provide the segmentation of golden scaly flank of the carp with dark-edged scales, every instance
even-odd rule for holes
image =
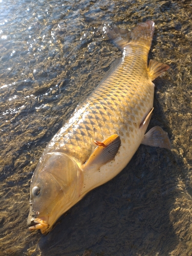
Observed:
[[[50,141],[47,152],[59,149],[82,164],[96,147],[94,140],[102,141],[118,134],[122,143],[125,138],[130,138],[128,142],[132,143],[136,127],[152,109],[154,97],[154,85],[146,66],[147,50],[137,48],[128,50],[115,72],[76,109]]]

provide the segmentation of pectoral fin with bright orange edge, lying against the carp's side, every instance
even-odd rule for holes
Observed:
[[[114,134],[106,138],[102,142],[95,141],[97,147],[91,154],[86,163],[83,164],[82,169],[88,170],[90,168],[99,169],[103,164],[112,161],[121,144],[119,135]]]

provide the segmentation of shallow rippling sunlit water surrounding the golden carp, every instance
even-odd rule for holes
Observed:
[[[0,255],[190,255],[192,210],[190,1],[0,1]],[[172,152],[141,145],[112,181],[43,236],[29,232],[30,180],[48,141],[120,51],[104,24],[153,19],[155,110]]]

